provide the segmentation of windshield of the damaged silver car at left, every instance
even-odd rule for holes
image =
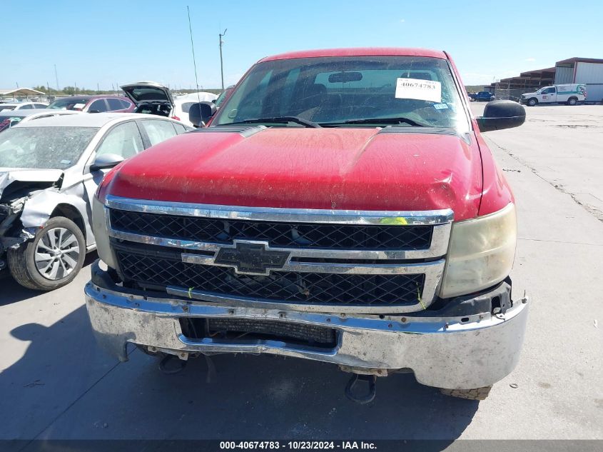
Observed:
[[[0,134],[0,167],[66,169],[78,161],[96,127],[15,127]]]

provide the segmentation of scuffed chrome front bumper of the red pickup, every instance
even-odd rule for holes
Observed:
[[[96,271],[101,271],[96,269]],[[375,316],[223,306],[183,298],[152,298],[86,284],[86,307],[98,343],[127,361],[127,343],[188,357],[189,353],[271,353],[367,369],[410,368],[419,383],[440,388],[489,386],[519,359],[527,300],[505,314],[463,317]],[[184,336],[179,318],[257,318],[335,328],[338,346],[318,349],[282,341],[240,343]]]

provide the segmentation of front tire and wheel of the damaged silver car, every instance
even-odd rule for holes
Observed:
[[[33,240],[10,248],[8,258],[11,275],[21,286],[52,291],[77,276],[86,258],[86,241],[73,221],[55,216]]]

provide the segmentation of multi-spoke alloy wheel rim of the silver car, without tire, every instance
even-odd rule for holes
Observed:
[[[79,255],[80,248],[74,233],[66,228],[52,228],[36,243],[34,261],[41,276],[56,281],[74,271]]]

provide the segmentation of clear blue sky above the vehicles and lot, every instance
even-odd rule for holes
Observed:
[[[603,58],[603,1],[1,0],[0,89],[77,84],[88,89],[154,80],[218,88],[263,56],[354,46],[444,49],[465,84],[582,56]]]

